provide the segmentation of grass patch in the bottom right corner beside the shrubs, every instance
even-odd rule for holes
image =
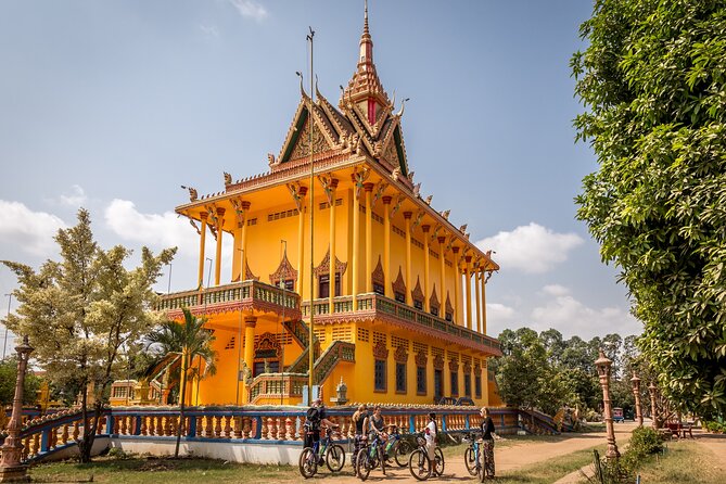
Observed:
[[[662,457],[640,462],[637,472],[645,483],[723,484],[726,475],[714,468],[715,459],[695,442],[674,442]]]

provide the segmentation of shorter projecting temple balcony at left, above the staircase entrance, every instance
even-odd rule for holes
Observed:
[[[297,293],[255,280],[162,295],[156,309],[174,319],[181,317],[182,307],[195,316],[242,311],[301,318]]]

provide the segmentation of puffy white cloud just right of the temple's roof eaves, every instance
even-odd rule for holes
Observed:
[[[569,252],[583,243],[576,233],[556,233],[538,224],[517,227],[476,242],[483,251],[493,250],[502,269],[542,273],[568,259]]]

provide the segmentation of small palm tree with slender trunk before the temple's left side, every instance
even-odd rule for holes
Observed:
[[[187,397],[187,380],[190,378],[189,368],[194,358],[199,357],[204,362],[202,378],[216,372],[216,352],[212,349],[215,340],[212,331],[204,328],[206,318],[193,316],[188,308],[181,309],[184,322],[165,321],[153,330],[147,341],[150,345],[158,345],[166,355],[177,354],[181,359],[180,397],[179,397],[179,425],[177,425],[177,445],[174,457],[179,457],[179,443],[181,442],[181,422],[184,419],[184,400]]]

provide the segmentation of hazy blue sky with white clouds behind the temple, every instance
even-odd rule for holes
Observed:
[[[404,139],[422,196],[501,266],[488,333],[640,333],[617,269],[576,220],[597,163],[574,140],[584,107],[569,61],[591,3],[369,3],[381,81],[410,99]],[[319,89],[336,102],[362,16],[362,0],[0,2],[0,259],[58,259],[53,235],[82,206],[104,247],[179,246],[158,291],[195,288],[180,186],[211,193],[224,171],[267,171],[300,101],[295,72],[309,79],[308,26]],[[0,267],[2,317],[16,286]]]

